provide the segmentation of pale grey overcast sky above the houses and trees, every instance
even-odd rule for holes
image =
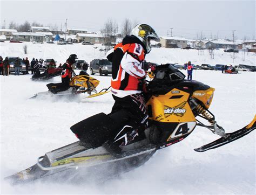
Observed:
[[[255,1],[4,1],[1,27],[25,20],[47,26],[87,29],[98,32],[112,18],[119,25],[125,18],[151,25],[160,36],[197,38],[255,37]]]

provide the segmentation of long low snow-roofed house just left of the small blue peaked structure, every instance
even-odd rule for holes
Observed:
[[[13,32],[12,36],[14,40],[20,41],[39,41],[44,42],[45,35],[38,32]]]

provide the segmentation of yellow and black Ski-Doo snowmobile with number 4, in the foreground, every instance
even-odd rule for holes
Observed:
[[[147,85],[145,94],[150,123],[144,133],[136,134],[132,139],[129,139],[129,133],[123,133],[122,128],[130,121],[126,110],[99,113],[71,127],[80,141],[47,152],[35,165],[5,179],[16,184],[60,172],[73,174],[82,168],[88,170],[86,174],[100,170],[114,175],[144,164],[157,150],[184,140],[197,126],[220,136],[218,140],[194,149],[198,152],[221,147],[256,128],[255,116],[244,128],[225,133],[208,110],[214,88],[198,81],[184,80],[185,75],[169,64],[157,66],[153,73],[154,78]],[[203,118],[210,125],[196,117]],[[104,146],[113,137],[113,142],[124,139],[126,143],[118,155]]]

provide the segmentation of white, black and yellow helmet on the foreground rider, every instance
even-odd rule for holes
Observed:
[[[146,47],[146,53],[151,51],[150,40],[159,42],[160,39],[154,29],[147,24],[136,25],[131,32],[131,35],[137,37]]]

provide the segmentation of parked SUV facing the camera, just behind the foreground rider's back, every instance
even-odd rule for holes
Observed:
[[[112,63],[107,59],[94,59],[90,62],[91,75],[99,73],[99,75],[107,75],[112,73]]]

